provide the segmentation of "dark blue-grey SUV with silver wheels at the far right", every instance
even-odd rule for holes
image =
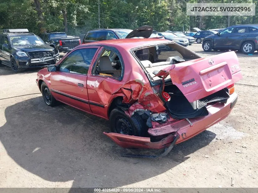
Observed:
[[[258,25],[234,25],[205,37],[202,48],[205,52],[213,50],[241,50],[252,54],[258,50]]]

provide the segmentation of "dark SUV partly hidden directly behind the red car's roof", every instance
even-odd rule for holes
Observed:
[[[85,34],[82,43],[85,44],[93,41],[124,39],[132,31],[133,30],[129,29],[94,29]]]

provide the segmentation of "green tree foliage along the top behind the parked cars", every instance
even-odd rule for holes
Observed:
[[[42,17],[38,15],[35,1],[40,3]],[[150,25],[158,31],[182,31],[183,26],[184,30],[199,26],[203,30],[227,27],[227,16],[202,16],[201,20],[200,16],[186,16],[187,2],[231,0],[1,0],[0,29],[28,28],[35,34],[42,28],[47,32],[64,31],[64,17],[67,17],[68,35],[85,34],[87,30],[99,27],[99,9],[101,28],[135,29]],[[234,2],[256,3],[258,11],[257,0]],[[230,17],[231,25],[250,23],[258,23],[258,17]]]

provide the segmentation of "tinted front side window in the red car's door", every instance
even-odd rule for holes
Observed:
[[[97,48],[84,48],[71,52],[59,65],[60,72],[87,75],[90,63]]]

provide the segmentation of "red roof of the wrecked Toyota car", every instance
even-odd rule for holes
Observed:
[[[87,44],[82,44],[77,46],[79,47],[88,47],[88,46],[111,46],[115,48],[124,48],[126,50],[130,50],[138,47],[146,47],[148,45],[156,45],[156,44],[169,44],[173,43],[172,41],[165,39],[156,39],[156,38],[130,38],[130,39],[115,39],[115,40],[104,40],[104,41],[95,41]]]

